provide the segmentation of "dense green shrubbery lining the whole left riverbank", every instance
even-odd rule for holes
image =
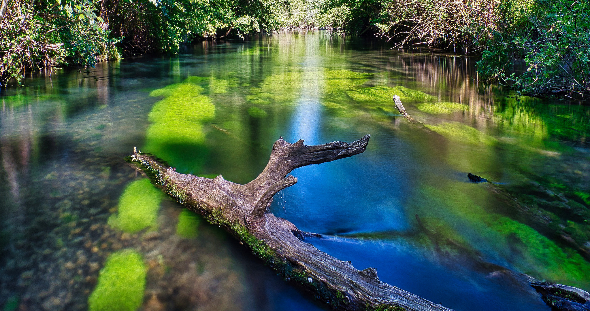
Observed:
[[[280,27],[286,0],[3,0],[0,82],[133,52],[176,53],[195,38]],[[117,44],[117,48],[116,48]]]

